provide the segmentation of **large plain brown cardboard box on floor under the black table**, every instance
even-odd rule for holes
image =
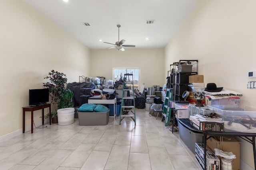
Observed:
[[[207,140],[206,145],[215,153],[214,149],[220,149],[224,152],[232,152],[236,155],[233,160],[233,170],[240,170],[240,145],[241,142],[238,141],[236,137],[223,137],[222,142],[220,142],[221,137],[212,137]],[[217,156],[219,159],[220,157]]]

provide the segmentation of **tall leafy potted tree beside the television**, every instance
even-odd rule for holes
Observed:
[[[44,79],[49,80],[49,82],[43,83],[43,86],[49,88],[51,104],[53,105],[51,113],[52,123],[58,123],[57,110],[74,107],[72,102],[74,93],[70,89],[65,88],[68,79],[66,74],[62,72],[51,70]],[[45,118],[48,117],[49,114],[45,116]]]

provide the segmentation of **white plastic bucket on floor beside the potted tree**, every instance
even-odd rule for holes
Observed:
[[[58,109],[57,113],[58,113],[58,125],[70,125],[74,123],[74,115],[75,115],[74,107]]]

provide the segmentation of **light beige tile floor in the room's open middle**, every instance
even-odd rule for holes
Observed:
[[[0,170],[201,170],[161,117],[136,109],[104,126],[47,125],[0,142]]]

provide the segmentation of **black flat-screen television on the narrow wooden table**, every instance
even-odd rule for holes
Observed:
[[[49,102],[49,89],[30,89],[29,90],[29,106],[38,106]]]

